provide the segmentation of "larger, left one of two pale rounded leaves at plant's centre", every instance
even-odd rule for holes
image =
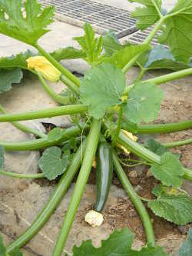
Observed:
[[[121,69],[109,63],[91,68],[81,81],[81,102],[88,105],[94,118],[102,118],[107,108],[122,104],[125,77]]]

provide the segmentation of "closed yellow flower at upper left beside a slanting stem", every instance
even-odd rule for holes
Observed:
[[[35,71],[39,72],[49,81],[58,81],[61,77],[61,72],[43,56],[30,57],[27,59],[27,62],[28,68],[35,69]]]

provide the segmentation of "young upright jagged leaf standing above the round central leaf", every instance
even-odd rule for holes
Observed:
[[[97,63],[102,52],[102,37],[95,37],[91,25],[84,24],[84,36],[74,38],[81,45],[86,54],[86,60],[90,65]]]

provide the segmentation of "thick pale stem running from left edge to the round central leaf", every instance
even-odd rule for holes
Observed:
[[[68,105],[56,108],[45,108],[38,111],[28,111],[18,114],[7,114],[0,116],[0,122],[2,121],[23,121],[32,120],[38,118],[52,118],[58,115],[73,115],[80,114],[88,110],[85,105]]]

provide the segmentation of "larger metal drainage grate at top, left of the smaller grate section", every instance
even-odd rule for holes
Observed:
[[[71,25],[82,27],[89,22],[94,31],[103,34],[112,29],[118,38],[137,32],[136,19],[130,12],[90,0],[39,0],[41,5],[55,5],[55,17]]]

